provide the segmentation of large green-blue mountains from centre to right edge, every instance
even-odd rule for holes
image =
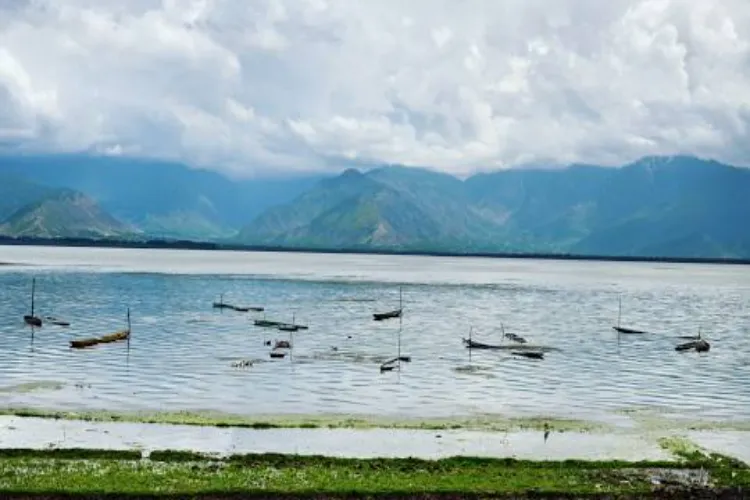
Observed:
[[[349,170],[270,208],[248,244],[627,257],[750,257],[750,170],[686,156],[460,181]]]

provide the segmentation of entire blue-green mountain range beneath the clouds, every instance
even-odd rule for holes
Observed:
[[[750,258],[749,193],[750,170],[689,156],[465,180],[386,166],[242,181],[164,162],[0,157],[0,234]]]

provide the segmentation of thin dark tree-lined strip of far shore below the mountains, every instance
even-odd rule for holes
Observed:
[[[576,255],[562,253],[513,253],[513,252],[455,252],[431,250],[392,250],[374,248],[321,248],[241,245],[234,243],[212,243],[190,240],[94,240],[87,238],[12,238],[0,236],[0,246],[54,246],[89,248],[138,248],[164,250],[220,250],[232,252],[285,252],[354,255],[413,255],[425,257],[472,257],[494,259],[537,260],[583,260],[608,262],[662,262],[673,264],[733,264],[750,265],[750,258],[703,258],[703,257],[647,257],[617,255]],[[0,263],[0,265],[3,265]]]

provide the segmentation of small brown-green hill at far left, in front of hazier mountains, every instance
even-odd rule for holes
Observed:
[[[127,239],[136,233],[88,196],[69,189],[51,192],[0,224],[0,234],[15,238]]]

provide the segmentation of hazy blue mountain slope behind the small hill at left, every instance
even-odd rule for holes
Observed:
[[[322,178],[234,181],[179,163],[83,154],[0,156],[0,172],[85,193],[151,237],[211,241],[234,236]]]

